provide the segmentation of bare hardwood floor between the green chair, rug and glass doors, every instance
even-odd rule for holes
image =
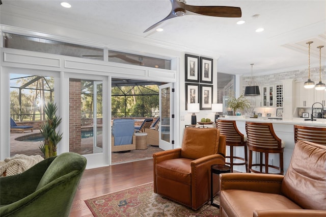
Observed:
[[[84,200],[152,181],[153,159],[85,170],[69,216],[93,216]]]

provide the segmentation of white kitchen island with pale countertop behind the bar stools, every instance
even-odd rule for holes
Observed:
[[[260,123],[273,123],[273,128],[276,135],[285,143],[283,161],[284,161],[284,174],[289,167],[290,159],[294,148],[294,125],[326,127],[326,119],[316,119],[316,121],[305,121],[304,118],[293,118],[292,120],[282,119],[268,119],[267,117],[250,118],[244,116],[226,116],[219,118],[222,120],[235,120],[236,125],[241,133],[246,135],[246,121],[260,122]],[[254,152],[255,153],[255,152]],[[227,155],[229,150],[227,148]],[[234,155],[244,157],[243,148],[235,148]],[[253,154],[256,161],[259,160],[259,154]],[[269,163],[272,165],[279,165],[279,156],[277,154],[269,154]],[[246,172],[243,166],[234,166],[234,170],[239,172]],[[270,172],[274,172],[270,169]],[[276,172],[276,171],[275,171]]]

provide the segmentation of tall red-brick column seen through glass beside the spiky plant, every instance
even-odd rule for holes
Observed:
[[[80,98],[81,83],[80,79],[70,79],[69,82],[69,150],[75,152],[82,148],[81,132],[81,106]]]

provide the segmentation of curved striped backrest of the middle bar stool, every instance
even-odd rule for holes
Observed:
[[[282,149],[282,141],[274,132],[272,123],[246,122],[249,149]]]

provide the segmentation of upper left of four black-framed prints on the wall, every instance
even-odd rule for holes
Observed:
[[[185,82],[199,82],[199,57],[185,55]]]

